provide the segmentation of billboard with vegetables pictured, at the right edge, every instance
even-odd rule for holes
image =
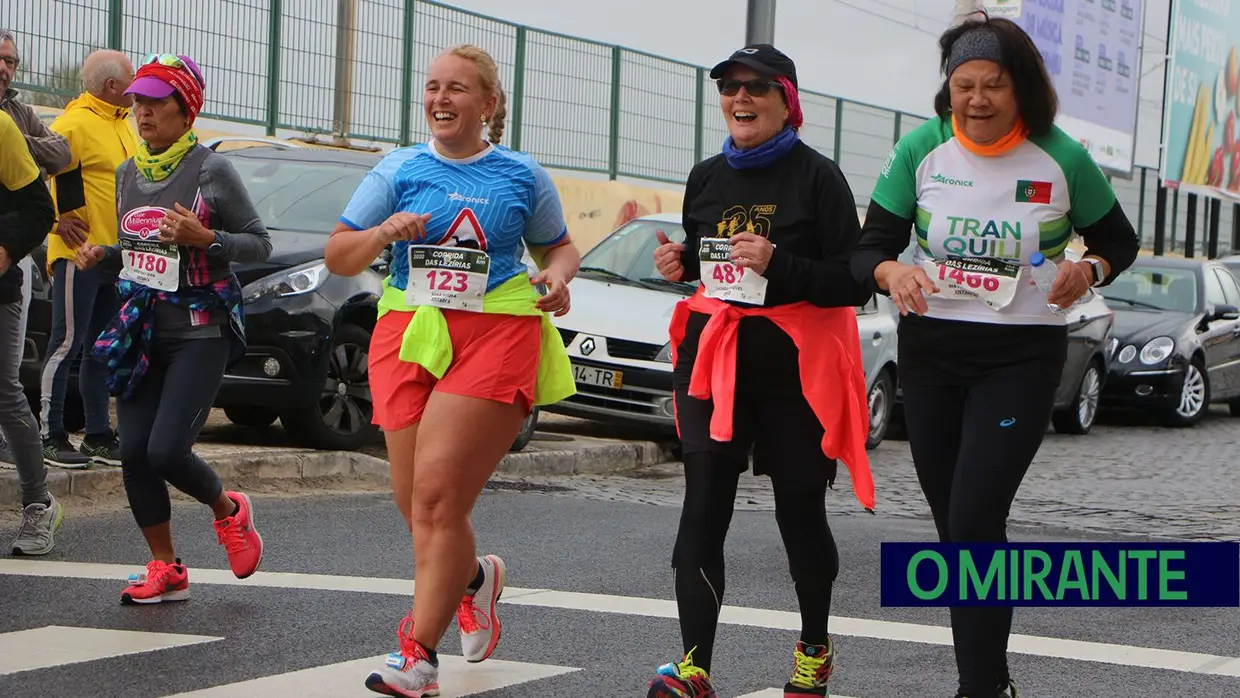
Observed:
[[[1159,175],[1171,188],[1240,200],[1240,2],[1173,0],[1171,12]]]

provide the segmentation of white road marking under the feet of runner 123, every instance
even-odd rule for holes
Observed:
[[[298,696],[299,698],[348,698],[374,696],[365,681],[383,666],[387,655],[301,669],[253,681],[216,686],[167,698],[249,698],[253,696]],[[573,667],[487,660],[471,665],[463,657],[439,655],[439,689],[443,698],[472,696],[582,671]]]

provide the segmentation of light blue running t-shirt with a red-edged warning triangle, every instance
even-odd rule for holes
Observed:
[[[568,234],[559,192],[551,175],[523,152],[501,145],[455,160],[433,143],[398,148],[387,154],[357,186],[340,221],[365,231],[397,212],[430,213],[427,239],[482,249],[491,257],[486,290],[527,269],[525,243],[548,245]],[[392,247],[391,284],[409,281],[409,243]]]

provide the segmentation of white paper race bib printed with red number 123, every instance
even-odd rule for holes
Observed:
[[[491,257],[480,249],[430,244],[409,245],[409,305],[482,312]]]

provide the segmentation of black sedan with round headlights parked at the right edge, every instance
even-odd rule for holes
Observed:
[[[1105,407],[1168,426],[1197,424],[1211,403],[1240,414],[1240,283],[1226,267],[1141,255],[1101,291],[1117,340]]]

